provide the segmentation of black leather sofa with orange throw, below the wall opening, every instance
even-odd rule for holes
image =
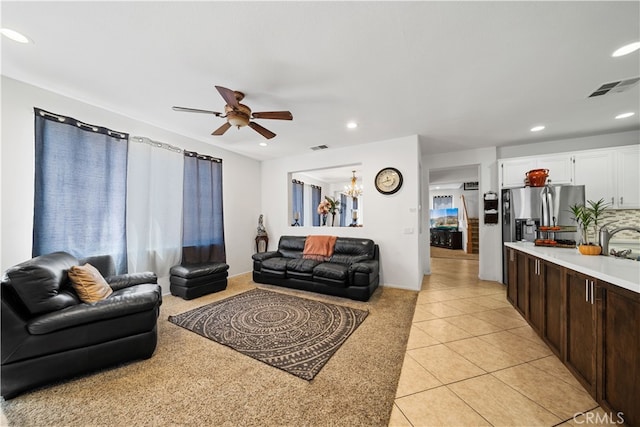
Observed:
[[[338,237],[329,261],[304,259],[305,236],[282,236],[278,250],[253,255],[253,281],[367,301],[378,287],[373,240]]]

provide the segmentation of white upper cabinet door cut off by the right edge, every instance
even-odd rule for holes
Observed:
[[[618,198],[619,209],[640,208],[640,146],[617,150]]]

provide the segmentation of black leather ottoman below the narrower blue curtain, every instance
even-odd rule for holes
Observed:
[[[227,287],[229,266],[224,262],[184,264],[171,267],[171,295],[193,299]]]

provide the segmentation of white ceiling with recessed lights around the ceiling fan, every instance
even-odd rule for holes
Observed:
[[[640,39],[637,1],[3,1],[1,12],[35,42],[3,38],[2,74],[256,159],[407,135],[441,153],[640,128],[637,85],[587,98],[640,76],[638,52],[611,57]],[[250,128],[211,136],[222,118],[171,110],[223,111],[214,85],[294,120],[257,120],[278,134],[260,147]]]

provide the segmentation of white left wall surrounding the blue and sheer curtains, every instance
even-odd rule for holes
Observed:
[[[254,239],[260,215],[261,189],[257,184],[260,180],[260,162],[4,76],[0,209],[2,271],[31,258],[33,107],[223,159],[224,225],[229,274],[251,271],[251,255],[255,252]],[[163,290],[168,291],[165,285],[163,283]]]

